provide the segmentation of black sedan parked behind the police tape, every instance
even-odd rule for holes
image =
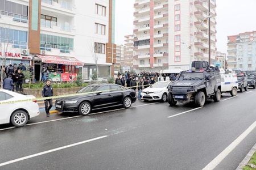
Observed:
[[[94,84],[82,88],[77,93],[89,94],[56,100],[56,110],[62,112],[79,112],[82,116],[86,116],[94,109],[109,108],[118,105],[123,105],[124,108],[130,108],[131,104],[136,101],[134,90],[117,84]]]

